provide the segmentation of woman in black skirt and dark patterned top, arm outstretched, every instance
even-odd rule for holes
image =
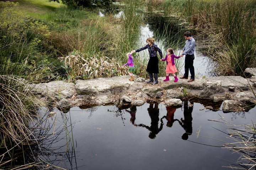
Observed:
[[[145,49],[148,49],[149,51],[149,62],[148,66],[146,68],[146,71],[149,74],[149,80],[146,81],[146,83],[151,83],[151,84],[158,84],[158,73],[159,73],[159,68],[158,68],[158,56],[157,52],[159,52],[160,58],[162,59],[162,51],[154,44],[155,39],[152,37],[149,37],[146,39],[146,42],[148,43],[144,47],[137,49],[137,50],[132,50],[131,53],[134,52],[139,52]],[[153,79],[153,74],[155,77],[155,81]]]

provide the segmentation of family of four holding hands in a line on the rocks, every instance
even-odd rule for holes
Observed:
[[[188,79],[188,71],[190,71],[191,77],[190,80],[188,80],[188,82],[194,81],[194,66],[193,66],[193,62],[194,62],[194,51],[195,51],[195,46],[196,46],[196,41],[194,40],[194,38],[191,36],[191,33],[189,31],[184,33],[184,38],[186,39],[185,42],[185,46],[183,47],[182,51],[181,51],[181,55],[180,56],[176,56],[174,54],[174,51],[172,48],[168,48],[166,50],[166,56],[164,59],[163,55],[162,55],[162,51],[161,49],[159,49],[159,47],[154,44],[154,38],[149,37],[148,39],[146,39],[146,43],[147,45],[145,45],[144,47],[141,47],[140,49],[137,50],[132,50],[131,52],[127,53],[127,63],[123,65],[123,67],[125,66],[129,66],[128,68],[128,74],[130,75],[130,81],[134,80],[133,77],[133,72],[134,72],[134,64],[133,64],[133,56],[132,54],[134,52],[139,52],[145,49],[148,49],[149,51],[149,61],[148,61],[148,66],[146,68],[146,71],[149,74],[149,80],[146,81],[146,83],[151,83],[152,85],[154,84],[158,84],[158,73],[159,73],[159,67],[158,67],[158,55],[157,53],[159,53],[160,55],[160,61],[166,61],[166,69],[165,69],[165,73],[166,73],[166,78],[164,79],[164,81],[169,81],[169,75],[172,74],[174,76],[174,82],[178,81],[178,78],[176,76],[176,66],[175,66],[175,62],[174,62],[174,58],[180,58],[183,57],[185,55],[185,74],[180,77],[180,79]],[[153,78],[154,75],[154,78]]]

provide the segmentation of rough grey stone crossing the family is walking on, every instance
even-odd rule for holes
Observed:
[[[256,68],[245,70],[241,76],[196,78],[187,82],[179,79],[174,83],[159,78],[156,85],[147,84],[144,78],[127,76],[76,80],[75,83],[52,81],[34,85],[34,91],[44,101],[55,101],[62,111],[74,106],[92,107],[97,105],[124,104],[141,106],[145,102],[164,102],[167,106],[181,106],[183,100],[201,99],[223,104],[223,111],[248,110],[256,104]],[[212,103],[209,102],[209,103]],[[207,102],[204,103],[206,108]]]

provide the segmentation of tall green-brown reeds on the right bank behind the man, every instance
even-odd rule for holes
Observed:
[[[182,17],[206,35],[208,55],[217,61],[218,75],[243,75],[256,67],[256,4],[251,0],[175,0]],[[238,66],[241,66],[238,67]]]

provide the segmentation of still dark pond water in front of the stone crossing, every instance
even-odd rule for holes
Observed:
[[[237,165],[241,153],[222,148],[234,142],[225,134],[226,124],[211,120],[251,124],[256,120],[256,109],[223,113],[202,110],[200,103],[188,106],[73,107],[68,113],[53,109],[57,113],[49,118],[45,115],[41,123],[43,135],[48,137],[41,141],[41,151],[38,147],[34,151],[47,163],[79,170],[217,170]]]

